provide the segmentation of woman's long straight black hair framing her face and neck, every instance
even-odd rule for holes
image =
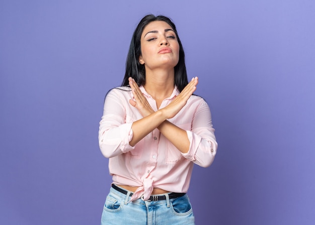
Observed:
[[[121,85],[128,86],[129,77],[132,77],[139,86],[145,83],[145,68],[144,68],[144,65],[140,64],[139,62],[139,56],[141,55],[140,40],[141,40],[141,34],[145,26],[153,21],[166,22],[172,27],[172,29],[174,30],[176,34],[177,41],[180,48],[179,48],[179,61],[177,65],[174,67],[175,85],[177,86],[179,91],[182,91],[184,87],[188,84],[184,49],[183,49],[181,40],[178,37],[175,24],[172,22],[170,18],[167,18],[162,15],[155,17],[154,15],[150,14],[143,17],[141,21],[139,22],[137,28],[135,29],[132,35],[129,52],[128,52],[127,60],[126,60],[126,73],[125,73],[125,76]]]

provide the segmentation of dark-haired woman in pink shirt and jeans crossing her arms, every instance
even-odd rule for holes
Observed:
[[[102,224],[194,224],[186,194],[193,165],[217,143],[210,109],[193,95],[174,23],[145,16],[133,33],[121,87],[105,98],[99,144],[113,183]]]

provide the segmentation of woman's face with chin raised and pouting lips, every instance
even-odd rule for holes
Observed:
[[[179,44],[172,27],[163,21],[146,25],[141,34],[139,62],[145,70],[174,68],[179,60]]]

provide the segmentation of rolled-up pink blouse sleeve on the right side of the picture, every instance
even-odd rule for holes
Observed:
[[[212,127],[210,108],[205,101],[195,111],[191,131],[186,131],[190,141],[189,151],[183,156],[195,164],[208,167],[212,164],[217,142]]]

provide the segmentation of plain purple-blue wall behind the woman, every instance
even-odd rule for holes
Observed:
[[[148,13],[172,18],[219,144],[196,224],[314,224],[312,0],[1,1],[0,224],[100,224],[106,92]]]

